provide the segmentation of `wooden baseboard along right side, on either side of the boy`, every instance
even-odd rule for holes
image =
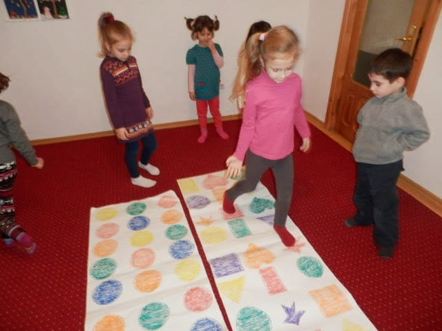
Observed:
[[[327,130],[323,121],[320,121],[320,119],[318,119],[314,115],[309,114],[309,112],[307,112],[307,119],[313,126],[327,134],[327,136],[336,141],[336,143],[339,143],[340,146],[343,146],[343,148],[350,152],[352,151],[352,143],[344,139],[342,136],[340,136],[340,134]],[[425,207],[442,217],[441,198],[437,197],[435,194],[423,188],[421,185],[412,181],[410,178],[404,176],[403,174],[401,174],[401,176],[399,177],[398,187],[410,194],[412,197],[414,197],[414,199],[425,205]]]

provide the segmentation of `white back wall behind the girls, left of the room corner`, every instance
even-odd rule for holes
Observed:
[[[220,92],[222,114],[237,114],[228,100],[237,54],[249,26],[265,19],[287,24],[305,41],[307,0],[94,0],[66,1],[70,19],[6,22],[0,3],[0,72],[10,76],[2,99],[13,103],[30,139],[64,137],[111,130],[99,82],[97,20],[111,11],[133,29],[144,88],[155,110],[155,123],[196,119],[187,93],[186,51],[191,40],[184,17],[218,15],[215,41],[224,52]],[[296,71],[302,74],[302,60]]]

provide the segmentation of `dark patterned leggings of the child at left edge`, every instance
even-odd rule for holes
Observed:
[[[19,228],[15,223],[15,203],[11,195],[17,178],[17,163],[0,164],[0,234],[3,238],[11,237]]]

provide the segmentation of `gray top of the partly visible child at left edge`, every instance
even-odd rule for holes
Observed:
[[[37,155],[26,132],[21,128],[19,115],[9,103],[0,100],[0,164],[15,161],[12,146],[29,165],[37,164]]]

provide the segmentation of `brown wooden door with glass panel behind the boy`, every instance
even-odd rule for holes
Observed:
[[[416,89],[442,0],[347,0],[325,126],[354,142],[356,117],[371,97],[367,69],[376,54],[402,48],[412,54],[407,93]]]

